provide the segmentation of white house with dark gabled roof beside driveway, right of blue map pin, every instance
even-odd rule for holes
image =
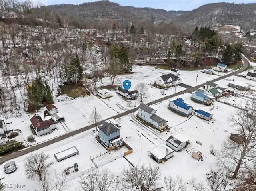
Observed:
[[[160,86],[174,86],[181,83],[181,78],[172,74],[166,74],[156,79],[156,84]]]

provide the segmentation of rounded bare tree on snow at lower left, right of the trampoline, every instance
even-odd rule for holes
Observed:
[[[24,168],[28,179],[34,180],[36,175],[42,180],[42,176],[48,172],[48,169],[53,164],[48,162],[49,155],[45,153],[32,154],[25,159]]]

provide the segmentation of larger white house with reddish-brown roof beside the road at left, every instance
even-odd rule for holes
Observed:
[[[57,128],[53,119],[43,121],[40,116],[34,115],[30,121],[37,136],[44,135]]]

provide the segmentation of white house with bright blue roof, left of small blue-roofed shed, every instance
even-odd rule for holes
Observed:
[[[184,100],[182,98],[169,101],[169,108],[185,116],[191,115],[193,109],[192,106],[184,103]]]

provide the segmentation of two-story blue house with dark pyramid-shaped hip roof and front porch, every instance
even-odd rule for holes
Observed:
[[[98,129],[100,140],[102,140],[107,147],[119,146],[123,143],[123,138],[120,137],[120,129],[114,124],[104,122]]]

